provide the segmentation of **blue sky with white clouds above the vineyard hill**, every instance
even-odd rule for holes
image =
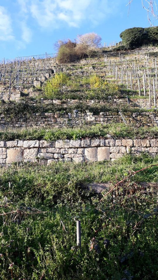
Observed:
[[[150,26],[142,0],[133,0],[129,15],[128,1],[0,0],[0,60],[54,53],[58,39],[77,34],[96,32],[109,43],[127,28]]]

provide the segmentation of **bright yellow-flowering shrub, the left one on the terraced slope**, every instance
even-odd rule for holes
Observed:
[[[49,98],[56,98],[56,95],[60,87],[67,84],[69,81],[68,76],[65,73],[55,74],[52,79],[49,79],[44,87],[44,94]]]

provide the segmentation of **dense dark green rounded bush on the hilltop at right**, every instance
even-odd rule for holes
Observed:
[[[158,27],[133,27],[121,32],[120,37],[129,50],[139,48],[146,44],[157,45]]]

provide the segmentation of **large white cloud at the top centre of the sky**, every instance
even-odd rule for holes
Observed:
[[[19,0],[22,1],[22,0]],[[26,1],[26,0],[25,0]],[[66,23],[79,27],[85,20],[92,24],[114,14],[115,0],[30,0],[30,11],[41,27],[58,28]]]

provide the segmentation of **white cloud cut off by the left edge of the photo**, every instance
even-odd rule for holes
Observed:
[[[3,6],[0,6],[0,41],[10,40],[14,40],[11,18],[7,10]]]

